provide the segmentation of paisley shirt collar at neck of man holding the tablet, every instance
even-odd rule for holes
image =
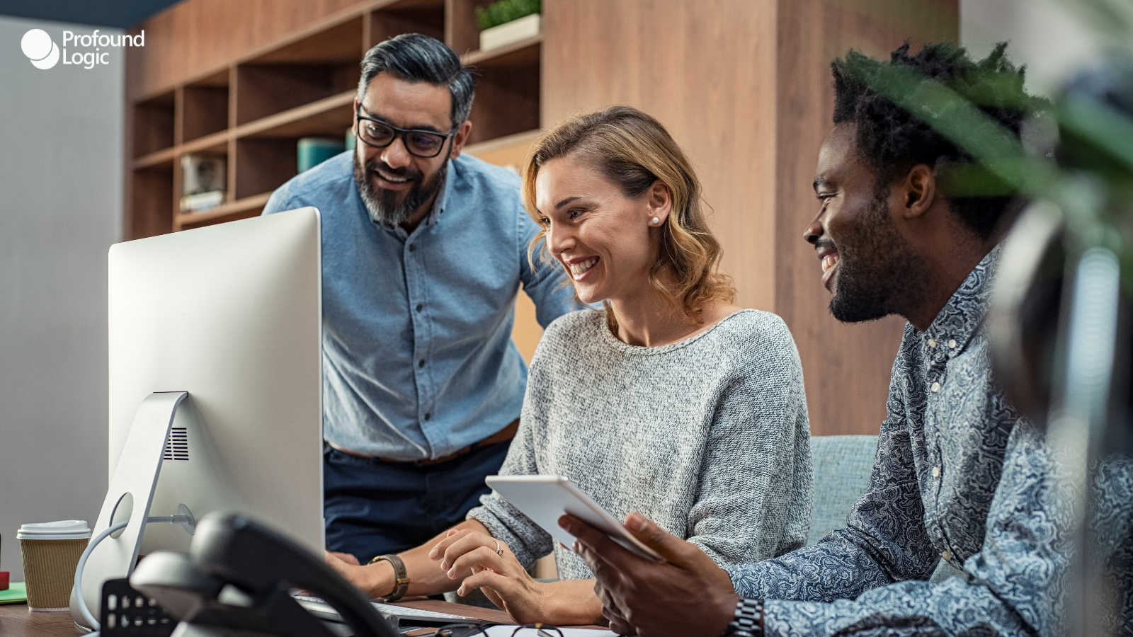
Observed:
[[[925,331],[925,341],[949,356],[964,350],[983,323],[1003,244],[991,248]]]

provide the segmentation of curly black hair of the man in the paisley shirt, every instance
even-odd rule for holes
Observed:
[[[919,163],[943,169],[947,164],[974,164],[976,160],[957,148],[931,126],[889,99],[867,86],[868,78],[888,65],[906,66],[923,77],[938,82],[997,120],[1016,138],[1024,119],[1040,101],[1023,90],[1024,68],[1015,68],[1004,54],[1007,43],[995,46],[981,61],[954,44],[926,44],[915,56],[909,43],[894,51],[888,62],[872,60],[850,51],[834,60],[834,124],[857,125],[858,151],[877,173],[879,192],[902,178]],[[981,196],[948,196],[952,211],[981,238],[987,239],[1015,198],[1010,189]]]

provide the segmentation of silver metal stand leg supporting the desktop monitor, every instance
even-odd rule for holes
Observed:
[[[188,396],[187,391],[151,393],[142,401],[134,416],[134,424],[130,425],[130,433],[122,447],[114,476],[110,479],[110,489],[107,490],[107,499],[102,502],[102,511],[99,512],[99,520],[94,524],[92,537],[122,520],[129,519],[129,524],[103,540],[91,552],[83,571],[83,597],[95,618],[100,614],[102,583],[112,578],[129,577],[134,572],[169,431],[178,406]],[[184,504],[181,508],[184,510],[179,512],[188,513]],[[189,519],[191,520],[191,513]],[[191,523],[182,526],[193,533]],[[74,589],[70,609],[76,623],[92,628],[78,611]]]

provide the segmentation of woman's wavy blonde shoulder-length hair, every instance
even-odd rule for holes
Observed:
[[[591,161],[627,197],[645,195],[657,180],[668,188],[672,210],[659,228],[661,246],[657,261],[649,269],[649,284],[685,322],[699,323],[700,313],[710,300],[735,301],[731,279],[718,272],[721,247],[705,220],[700,181],[684,152],[659,121],[631,107],[612,107],[571,117],[539,137],[523,170],[523,205],[536,223],[539,214],[535,207],[535,180],[539,168],[576,153]],[[546,233],[544,227],[528,246],[533,265],[536,250],[544,262],[557,263],[545,243]],[[659,278],[666,270],[674,279],[673,291]],[[606,318],[615,329],[608,303]]]

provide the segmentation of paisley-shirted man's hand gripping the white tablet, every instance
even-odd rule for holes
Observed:
[[[574,552],[597,577],[595,592],[610,629],[645,637],[717,637],[740,596],[726,572],[695,544],[665,532],[638,512],[625,527],[661,553],[654,562],[627,551],[585,521],[563,516],[559,524],[578,537]]]

